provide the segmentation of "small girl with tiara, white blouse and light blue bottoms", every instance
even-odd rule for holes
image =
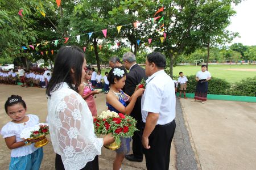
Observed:
[[[12,121],[3,126],[1,135],[11,150],[10,170],[39,170],[43,159],[43,148],[36,148],[39,139],[22,139],[20,133],[39,123],[38,116],[26,114],[27,106],[22,97],[11,95],[5,103],[5,111]]]

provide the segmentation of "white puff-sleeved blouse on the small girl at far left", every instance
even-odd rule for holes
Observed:
[[[34,114],[28,114],[27,116],[29,118],[27,122],[24,122],[22,124],[15,124],[14,122],[8,122],[5,126],[3,126],[1,130],[1,135],[3,136],[3,138],[15,136],[16,142],[24,141],[24,139],[20,138],[20,133],[22,133],[22,130],[28,127],[33,127],[39,123],[38,116]],[[38,149],[34,145],[35,143],[32,143],[31,145],[18,147],[11,150],[11,157],[19,157],[19,156],[26,156],[28,154],[32,154]]]

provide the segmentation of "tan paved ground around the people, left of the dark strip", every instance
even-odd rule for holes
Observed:
[[[10,121],[10,118],[5,113],[3,105],[7,100],[7,97],[11,95],[20,95],[23,97],[27,104],[27,113],[36,114],[39,116],[41,122],[45,122],[47,116],[47,99],[45,96],[45,90],[42,88],[21,88],[19,86],[10,86],[0,84],[0,128]],[[105,94],[97,95],[96,104],[98,113],[106,110],[105,106]],[[10,150],[6,147],[5,141],[0,137],[0,169],[8,169],[10,162]],[[100,169],[112,169],[113,159],[115,152],[102,148],[102,155],[99,158]],[[44,146],[44,158],[40,169],[55,169],[55,153],[51,143]],[[143,159],[142,163],[133,163],[125,160],[122,165],[122,169],[146,169],[146,163]],[[172,144],[171,149],[171,163],[170,169],[176,169],[176,153],[175,146]]]

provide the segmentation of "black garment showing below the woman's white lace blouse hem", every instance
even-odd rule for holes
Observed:
[[[56,170],[65,170],[63,162],[61,160],[61,156],[56,154],[55,157],[55,169]],[[88,162],[84,168],[81,170],[98,170],[98,156],[95,156],[95,158],[91,161]]]

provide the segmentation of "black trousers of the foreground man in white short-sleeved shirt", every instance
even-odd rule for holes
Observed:
[[[171,143],[175,128],[175,120],[170,124],[155,126],[155,129],[148,137],[148,145],[150,148],[143,148],[147,170],[169,169]]]

